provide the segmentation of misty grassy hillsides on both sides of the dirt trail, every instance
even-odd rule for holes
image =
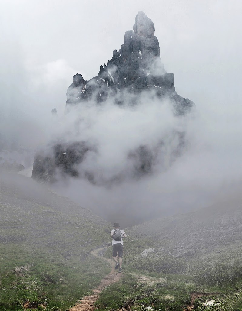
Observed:
[[[21,310],[23,304],[66,310],[109,271],[89,255],[109,242],[109,224],[28,179],[20,181],[1,183],[0,310]],[[242,310],[240,202],[233,197],[126,230],[124,278],[102,292],[97,309],[178,311],[199,292],[197,310],[208,299],[221,302],[219,311]],[[145,248],[155,252],[142,258]],[[111,256],[110,248],[105,255]],[[14,273],[17,266],[28,271]]]

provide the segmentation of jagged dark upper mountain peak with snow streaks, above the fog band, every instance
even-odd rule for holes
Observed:
[[[135,104],[145,91],[160,99],[168,96],[176,114],[188,112],[194,103],[177,95],[174,74],[164,69],[154,32],[153,22],[145,13],[138,12],[133,30],[126,31],[123,45],[118,52],[114,50],[107,65],[100,66],[96,77],[84,81],[81,74],[73,76],[73,83],[66,93],[66,104],[79,104],[87,100],[101,103],[108,98],[116,104],[123,104],[124,97],[127,103],[127,92],[135,94],[134,99],[129,97],[129,104]]]

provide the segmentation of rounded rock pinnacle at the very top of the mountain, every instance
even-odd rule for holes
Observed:
[[[153,38],[155,34],[154,23],[150,18],[146,16],[144,12],[139,11],[135,17],[135,23],[133,25],[133,30],[137,35]]]

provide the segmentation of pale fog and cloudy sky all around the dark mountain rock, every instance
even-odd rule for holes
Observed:
[[[177,93],[196,109],[176,118],[168,100],[143,98],[136,108],[107,102],[64,114],[72,76],[96,76],[123,44],[139,10],[154,22]],[[124,225],[218,200],[240,185],[242,173],[239,12],[239,1],[3,2],[0,156],[24,165],[22,173],[31,176],[36,149],[51,140],[98,146],[98,156],[90,153],[83,163],[97,176],[96,185],[60,178],[52,187]],[[186,146],[173,161],[176,130],[186,131]],[[161,139],[152,173],[131,178],[127,153],[140,144],[153,151]],[[106,182],[116,174],[122,174],[121,182]]]

